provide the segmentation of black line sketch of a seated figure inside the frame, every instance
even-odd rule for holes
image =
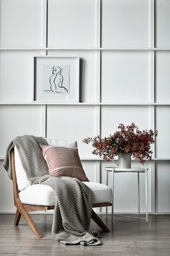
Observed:
[[[61,67],[53,66],[52,76],[49,79],[50,90],[53,93],[68,93],[68,90],[63,86],[63,75]]]

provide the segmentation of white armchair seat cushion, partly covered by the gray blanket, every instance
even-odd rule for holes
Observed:
[[[112,202],[112,189],[96,183],[84,182],[92,191],[93,203]],[[35,184],[19,192],[20,200],[29,205],[55,205],[55,192],[48,185]]]

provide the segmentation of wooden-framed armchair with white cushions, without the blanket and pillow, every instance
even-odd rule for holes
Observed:
[[[64,140],[47,140],[49,145],[63,145],[76,147],[76,141]],[[17,148],[12,150],[12,178],[14,189],[14,205],[17,208],[14,225],[19,224],[21,216],[30,226],[30,229],[37,237],[43,237],[40,230],[35,225],[29,212],[40,210],[51,210],[55,205],[55,193],[53,189],[47,185],[34,184],[31,185],[24,173],[22,164],[19,160]],[[96,182],[85,182],[91,189],[93,195],[93,208],[111,206],[112,190],[104,185]],[[91,218],[98,224],[103,231],[109,231],[107,226],[92,210]]]

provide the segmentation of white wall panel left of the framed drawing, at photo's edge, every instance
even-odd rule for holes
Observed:
[[[40,51],[0,52],[0,101],[25,103],[33,100],[33,56]]]

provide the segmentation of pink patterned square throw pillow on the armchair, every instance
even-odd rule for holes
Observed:
[[[48,164],[49,174],[55,177],[70,176],[88,182],[81,165],[77,148],[41,145],[42,154]]]

